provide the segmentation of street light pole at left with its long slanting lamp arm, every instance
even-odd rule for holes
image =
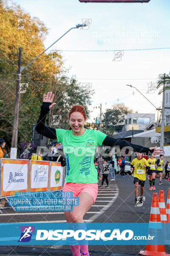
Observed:
[[[79,27],[87,26],[84,24],[78,24],[71,29],[78,29]],[[63,36],[65,36],[71,29],[69,29],[65,34],[58,38],[53,44],[51,44],[47,49],[41,52],[34,60],[26,65],[26,67],[21,66],[22,61],[22,48],[19,48],[19,59],[18,59],[18,71],[17,71],[17,87],[16,87],[16,96],[15,96],[15,110],[14,110],[14,122],[12,128],[12,141],[11,141],[11,152],[10,158],[17,158],[17,139],[18,139],[18,120],[19,120],[19,107],[20,107],[20,82],[21,82],[21,73],[28,66],[30,66],[37,58],[39,58],[44,52],[46,52],[51,46],[53,46],[57,41],[59,41]]]

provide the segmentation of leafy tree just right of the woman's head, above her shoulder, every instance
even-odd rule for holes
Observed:
[[[108,135],[113,135],[115,131],[122,130],[122,125],[118,125],[119,115],[127,115],[133,110],[126,107],[123,103],[113,105],[113,108],[106,109],[102,116],[102,131]]]

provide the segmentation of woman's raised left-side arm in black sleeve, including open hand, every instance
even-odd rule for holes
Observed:
[[[50,138],[50,139],[57,139],[56,136],[56,130],[54,128],[48,127],[45,125],[45,118],[47,114],[49,113],[50,109],[56,104],[52,103],[54,99],[54,94],[52,95],[52,92],[48,92],[47,96],[45,97],[45,94],[43,95],[43,102],[41,106],[40,116],[38,118],[35,130],[42,134],[43,136]]]

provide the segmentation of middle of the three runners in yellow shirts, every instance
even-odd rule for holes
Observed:
[[[149,190],[155,190],[155,175],[156,175],[156,158],[151,156],[147,159],[147,163],[150,165],[150,170],[148,170],[147,174],[149,175],[149,183],[150,183],[150,189]],[[153,186],[152,186],[153,183]]]

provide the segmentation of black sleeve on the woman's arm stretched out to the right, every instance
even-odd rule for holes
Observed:
[[[109,136],[105,137],[105,140],[103,140],[103,145],[106,146],[119,146],[120,149],[124,148],[124,147],[132,147],[133,151],[135,152],[139,152],[139,153],[146,153],[147,155],[151,155],[154,151],[154,149],[150,150],[149,148],[143,147],[143,146],[139,146],[136,144],[132,144],[130,142],[128,142],[127,140],[120,140],[120,139],[115,139]]]

